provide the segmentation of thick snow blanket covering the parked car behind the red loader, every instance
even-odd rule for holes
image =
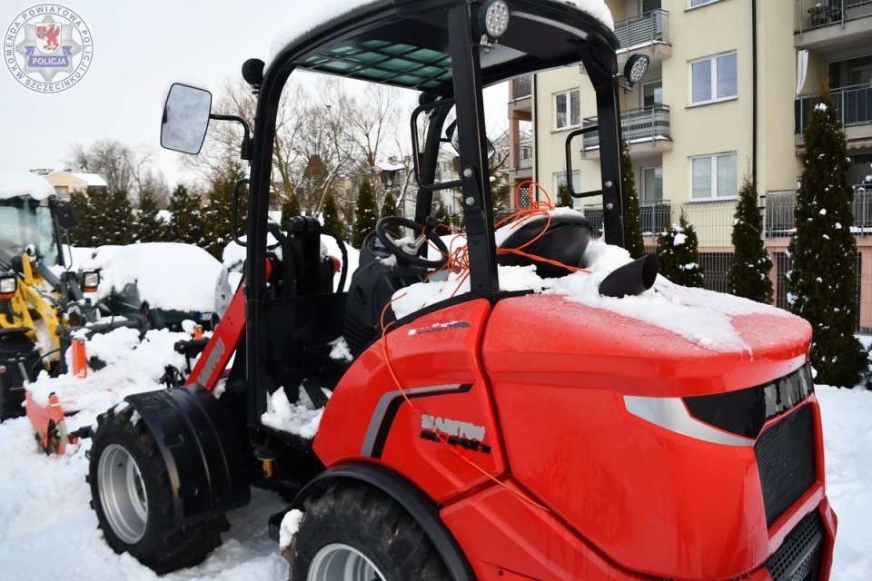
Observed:
[[[191,244],[148,242],[98,249],[94,262],[103,271],[99,296],[135,282],[153,309],[210,311],[221,262]]]

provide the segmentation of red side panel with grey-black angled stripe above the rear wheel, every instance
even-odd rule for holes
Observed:
[[[383,340],[363,352],[324,410],[314,441],[322,462],[328,468],[347,460],[381,462],[439,503],[488,482],[486,474],[505,472],[479,357],[489,315],[487,300],[472,300],[393,330],[386,340],[399,386],[385,365]],[[437,425],[431,428],[424,416]],[[459,423],[460,432],[452,429]],[[483,438],[474,438],[471,432],[481,433],[479,428]],[[424,431],[439,441],[423,438]],[[325,436],[332,434],[342,437]],[[480,445],[471,449],[476,439]]]

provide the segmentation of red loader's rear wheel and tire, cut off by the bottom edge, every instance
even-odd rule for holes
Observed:
[[[446,581],[441,556],[395,500],[362,483],[305,502],[290,555],[291,581]]]

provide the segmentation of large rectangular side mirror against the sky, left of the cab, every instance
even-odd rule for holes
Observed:
[[[161,147],[196,155],[203,148],[212,94],[205,89],[173,83],[163,105]]]

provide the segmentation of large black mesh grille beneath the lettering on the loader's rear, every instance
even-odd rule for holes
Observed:
[[[754,445],[766,525],[795,503],[816,480],[815,429],[808,405],[765,430]]]

